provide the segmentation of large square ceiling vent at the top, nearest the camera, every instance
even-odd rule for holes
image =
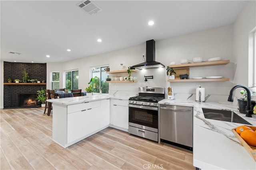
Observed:
[[[102,9],[98,7],[96,4],[93,2],[86,0],[86,1],[81,1],[76,6],[82,10],[84,10],[87,14],[95,14],[97,12],[101,12]]]

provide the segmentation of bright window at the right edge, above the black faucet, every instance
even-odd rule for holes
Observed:
[[[256,87],[256,27],[249,34],[248,86]]]

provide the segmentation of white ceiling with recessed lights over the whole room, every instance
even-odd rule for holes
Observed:
[[[247,3],[97,0],[92,2],[102,12],[89,15],[76,6],[78,2],[1,0],[1,60],[64,62],[220,27],[233,23]],[[155,24],[149,26],[149,20]]]

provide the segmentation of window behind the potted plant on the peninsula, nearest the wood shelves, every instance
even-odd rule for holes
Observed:
[[[108,83],[106,82],[106,78],[109,77],[109,74],[104,70],[109,66],[96,66],[91,68],[91,78],[94,80],[94,84],[92,86],[92,91],[96,93],[108,93]]]

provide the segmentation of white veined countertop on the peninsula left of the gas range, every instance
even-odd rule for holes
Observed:
[[[78,96],[72,98],[59,98],[59,99],[49,99],[47,102],[52,102],[53,104],[62,104],[62,105],[72,105],[80,104],[84,102],[92,102],[97,100],[104,99],[118,99],[118,100],[128,100],[131,96],[111,96],[108,94],[96,94],[92,96]]]

